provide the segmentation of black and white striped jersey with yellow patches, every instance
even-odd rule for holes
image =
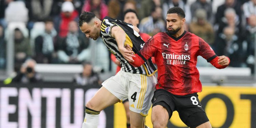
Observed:
[[[115,57],[121,62],[122,69],[125,72],[130,72],[133,74],[143,74],[147,76],[153,75],[157,71],[157,69],[151,58],[148,59],[141,67],[133,67],[118,51],[117,42],[111,36],[111,29],[114,26],[119,26],[125,31],[125,44],[130,45],[134,53],[139,53],[145,42],[141,39],[139,33],[132,29],[133,26],[131,24],[107,16],[103,19],[100,28],[100,37],[104,41],[105,45],[108,47],[109,51],[112,52]]]

